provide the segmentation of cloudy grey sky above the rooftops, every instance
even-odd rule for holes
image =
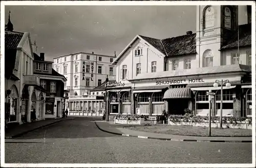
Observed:
[[[196,31],[196,6],[6,6],[5,22],[29,32],[47,61],[76,52],[117,55],[136,35],[165,39]]]

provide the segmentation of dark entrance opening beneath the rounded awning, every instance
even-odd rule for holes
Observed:
[[[168,104],[171,115],[184,115],[184,109],[188,108],[188,99],[170,99]]]

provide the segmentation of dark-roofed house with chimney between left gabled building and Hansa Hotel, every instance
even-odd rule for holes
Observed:
[[[40,53],[40,56],[33,54],[34,74],[40,78],[40,85],[46,90],[45,101],[40,102],[39,111],[45,112],[41,112],[45,118],[59,118],[65,109],[64,83],[67,79],[52,68],[53,62],[45,61],[45,53]]]

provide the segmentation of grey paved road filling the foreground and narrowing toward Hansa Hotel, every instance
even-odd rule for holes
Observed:
[[[92,120],[92,121],[90,121]],[[251,163],[251,143],[173,142],[100,131],[76,118],[6,139],[6,163]]]

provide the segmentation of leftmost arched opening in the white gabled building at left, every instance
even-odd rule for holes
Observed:
[[[11,87],[9,122],[17,121],[18,90],[15,85]]]

